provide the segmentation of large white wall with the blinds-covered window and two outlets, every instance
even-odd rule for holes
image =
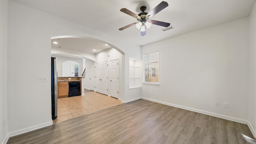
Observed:
[[[160,85],[143,84],[145,98],[246,122],[248,18],[142,46],[142,54],[156,50]]]

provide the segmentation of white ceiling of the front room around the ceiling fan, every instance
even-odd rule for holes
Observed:
[[[32,8],[48,12],[111,36],[123,38],[140,46],[178,36],[216,24],[250,15],[256,0],[165,0],[169,6],[153,16],[152,20],[168,22],[174,28],[163,32],[164,27],[152,25],[140,36],[135,26],[119,28],[136,22],[136,19],[121,8],[139,14],[140,6],[146,12],[161,0],[13,0]]]

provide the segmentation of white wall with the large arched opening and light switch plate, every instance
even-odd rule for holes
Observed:
[[[8,1],[8,129],[10,136],[52,124],[50,78],[51,37],[84,36],[119,48],[125,60],[122,95],[130,99],[129,57],[140,56],[140,46],[51,14]],[[126,62],[127,60],[127,62]],[[124,62],[124,61],[123,61]],[[127,64],[126,64],[127,63]],[[127,91],[126,91],[127,90]]]

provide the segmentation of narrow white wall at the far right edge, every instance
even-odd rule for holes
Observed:
[[[249,16],[248,121],[255,137],[256,127],[256,3]]]

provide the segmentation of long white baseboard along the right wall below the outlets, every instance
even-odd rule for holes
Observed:
[[[157,103],[160,103],[160,104],[165,104],[165,105],[168,105],[168,106],[173,106],[173,107],[176,107],[176,108],[181,108],[181,109],[184,109],[184,110],[190,110],[192,112],[198,112],[198,113],[201,113],[201,114],[206,114],[206,115],[209,115],[209,116],[215,116],[217,118],[223,118],[223,119],[226,119],[226,120],[231,120],[233,122],[248,124],[247,120],[242,120],[240,118],[234,118],[234,117],[231,117],[231,116],[225,116],[225,115],[222,115],[222,114],[216,114],[216,113],[213,113],[213,112],[207,112],[207,111],[204,111],[204,110],[198,110],[198,109],[195,109],[195,108],[189,108],[189,107],[186,107],[186,106],[180,106],[180,105],[177,105],[177,104],[171,104],[171,103],[168,103],[168,102],[153,100],[151,98],[142,97],[142,99],[149,100],[149,101],[152,101],[152,102],[157,102]]]

